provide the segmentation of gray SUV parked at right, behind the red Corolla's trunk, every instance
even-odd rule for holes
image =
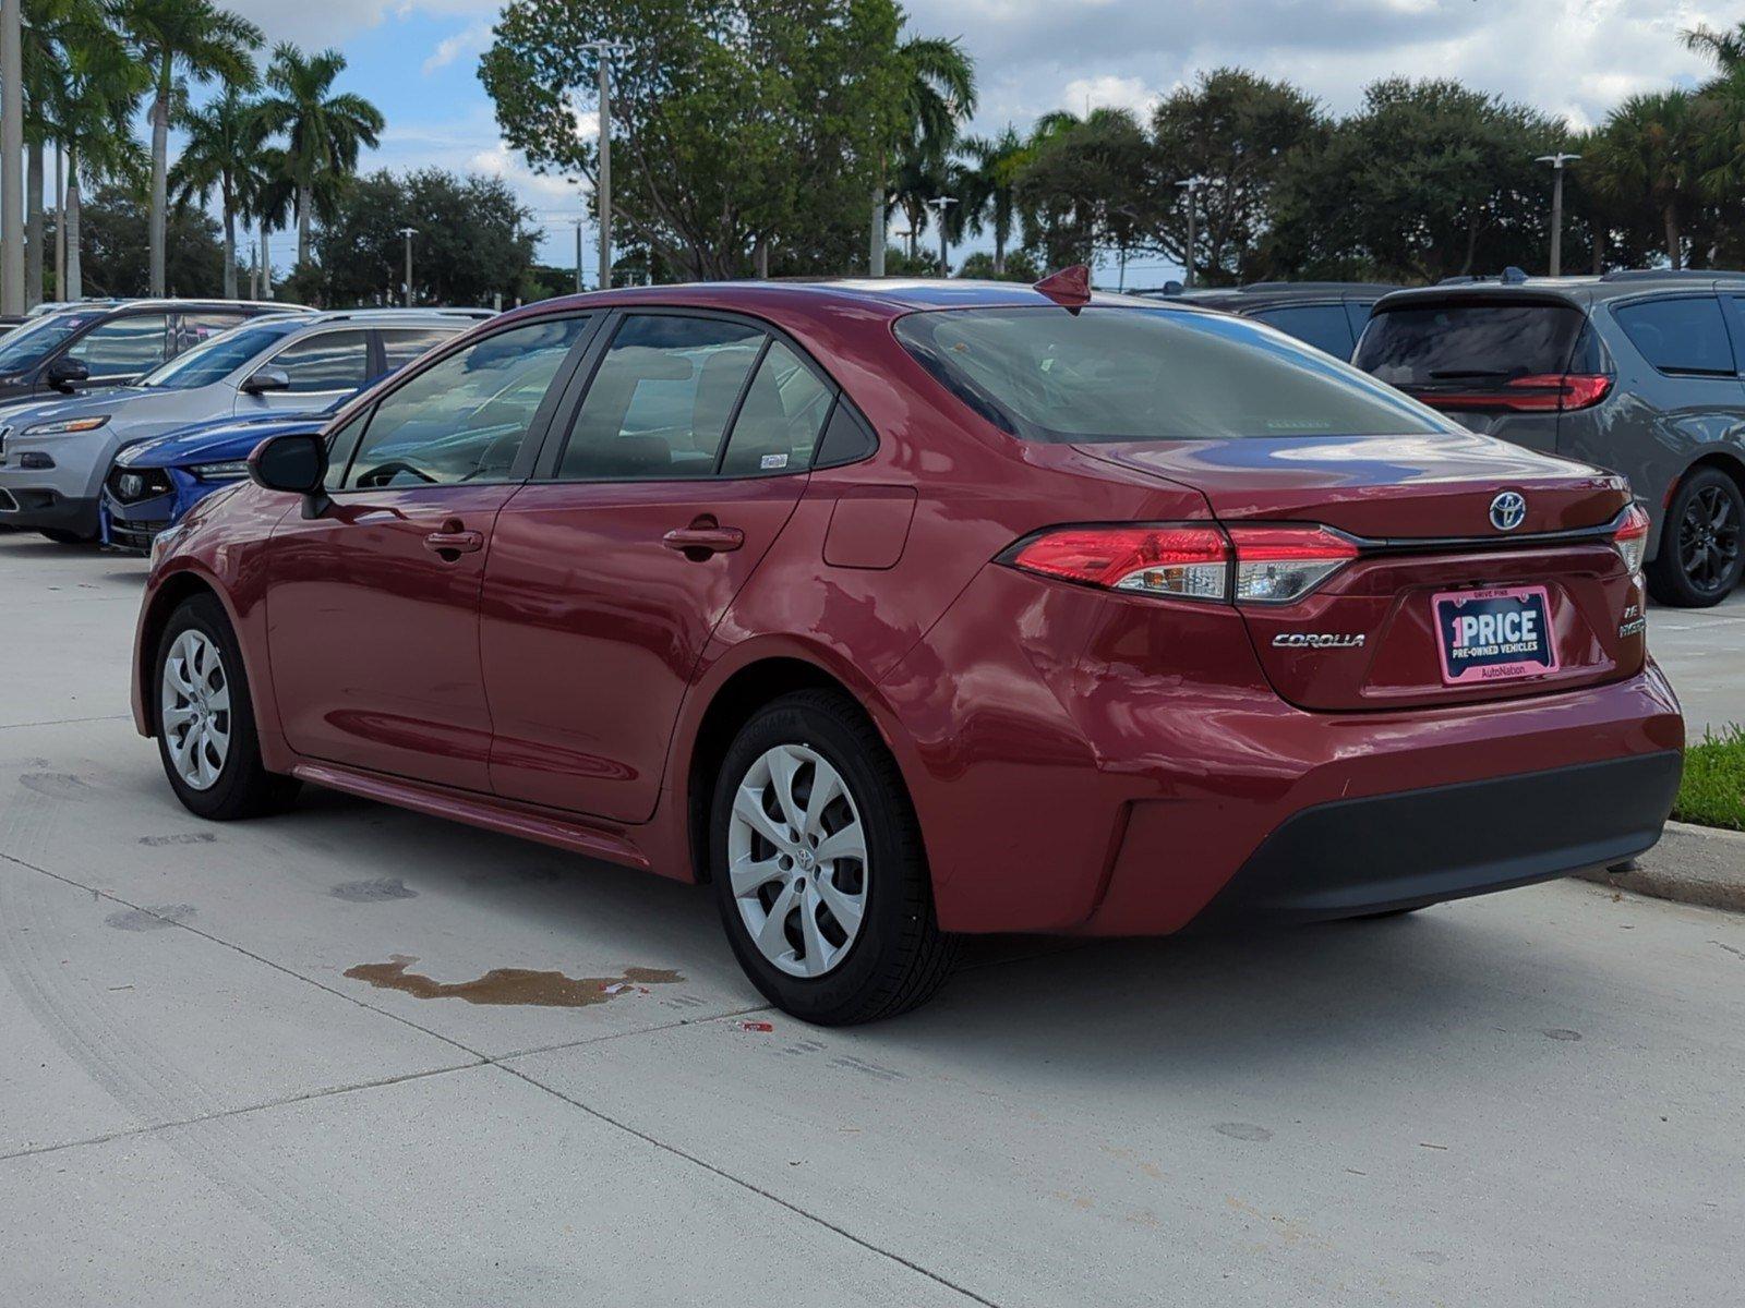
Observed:
[[[1719,603],[1745,572],[1745,274],[1609,272],[1398,291],[1356,363],[1466,427],[1630,478],[1647,582]]]

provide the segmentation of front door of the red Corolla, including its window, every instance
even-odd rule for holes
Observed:
[[[480,582],[585,323],[485,337],[335,439],[356,453],[332,473],[333,508],[290,514],[267,562],[274,685],[298,753],[489,790]]]

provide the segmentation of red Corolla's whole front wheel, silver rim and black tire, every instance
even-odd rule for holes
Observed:
[[[260,762],[243,651],[216,598],[195,595],[169,616],[154,673],[157,752],[185,809],[229,821],[291,800],[297,781]]]

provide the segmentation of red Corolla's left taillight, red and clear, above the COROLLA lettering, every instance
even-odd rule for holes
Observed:
[[[1024,572],[1176,600],[1290,603],[1358,556],[1326,527],[1057,527],[1000,555]]]

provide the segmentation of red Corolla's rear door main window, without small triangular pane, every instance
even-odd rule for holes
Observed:
[[[763,331],[742,323],[632,314],[588,385],[558,476],[712,476],[763,340]]]

